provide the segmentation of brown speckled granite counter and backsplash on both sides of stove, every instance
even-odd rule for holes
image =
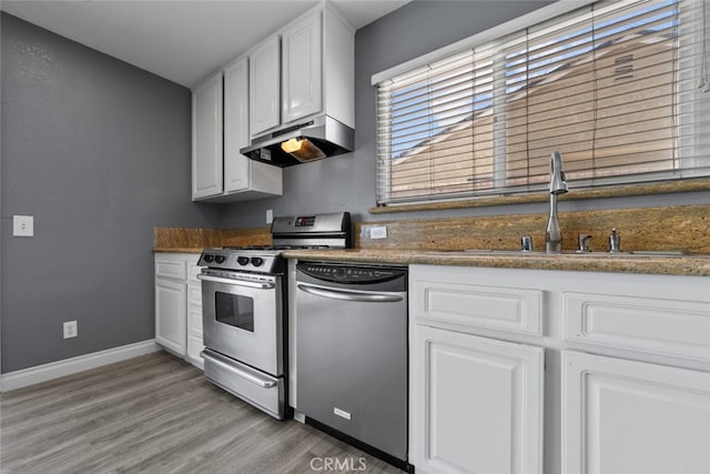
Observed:
[[[545,245],[547,215],[516,214],[358,222],[357,250],[291,250],[290,259],[341,262],[465,265],[587,272],[710,276],[710,204],[575,211],[560,214],[560,255],[466,252],[470,249],[519,249],[520,236]],[[369,239],[368,226],[387,226],[387,239]],[[617,228],[622,250],[683,251],[683,256],[609,255],[608,233]],[[592,235],[591,254],[577,255],[577,234]],[[195,252],[207,246],[267,245],[267,226],[233,230],[155,228],[153,251]]]

